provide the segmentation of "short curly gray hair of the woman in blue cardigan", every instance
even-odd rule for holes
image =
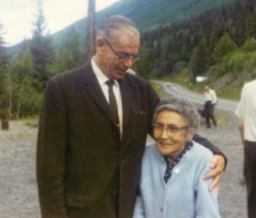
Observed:
[[[182,115],[187,124],[187,131],[196,133],[196,130],[199,126],[200,115],[197,112],[197,109],[191,101],[188,101],[184,98],[168,98],[160,102],[156,108],[156,112],[153,116],[153,123],[156,122],[157,114],[161,111],[175,111],[176,113]]]

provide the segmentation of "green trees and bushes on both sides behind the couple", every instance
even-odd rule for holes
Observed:
[[[134,70],[146,79],[174,81],[200,93],[208,84],[218,97],[238,100],[241,87],[256,71],[256,2],[234,0],[205,9],[191,19],[145,29],[144,57]],[[66,29],[56,47],[40,8],[34,23],[32,39],[24,40],[12,58],[0,24],[0,118],[38,115],[46,81],[83,64],[85,54],[76,28]],[[196,83],[197,76],[208,80]]]

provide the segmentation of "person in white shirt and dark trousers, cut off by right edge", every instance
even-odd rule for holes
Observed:
[[[244,175],[247,186],[248,217],[256,217],[256,74],[242,88],[241,100],[235,114],[244,145]]]

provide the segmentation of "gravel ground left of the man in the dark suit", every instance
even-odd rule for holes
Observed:
[[[0,217],[39,216],[35,160],[38,129],[26,121],[10,121],[0,130]]]

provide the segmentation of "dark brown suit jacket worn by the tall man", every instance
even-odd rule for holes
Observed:
[[[140,162],[160,100],[138,76],[126,73],[119,84],[122,141],[90,63],[48,81],[36,168],[43,218],[132,217]]]

